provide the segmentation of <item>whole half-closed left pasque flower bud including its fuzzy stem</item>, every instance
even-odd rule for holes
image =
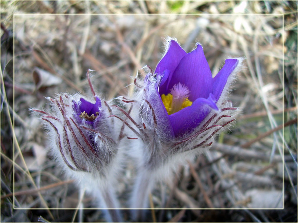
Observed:
[[[41,114],[49,130],[52,154],[69,177],[77,180],[100,202],[101,208],[117,208],[113,185],[119,172],[118,149],[111,106],[95,94],[89,73],[87,78],[93,98],[80,94],[58,94],[48,98],[50,112],[32,109]],[[121,221],[117,210],[105,211],[108,221]]]

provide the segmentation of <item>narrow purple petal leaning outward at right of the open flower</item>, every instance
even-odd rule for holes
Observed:
[[[228,77],[233,72],[235,67],[238,65],[238,59],[226,59],[224,66],[218,72],[218,74],[213,78],[213,95],[218,101],[221,93],[226,86],[226,81]]]

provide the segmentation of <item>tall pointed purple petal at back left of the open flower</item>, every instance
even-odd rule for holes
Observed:
[[[167,53],[164,57],[159,61],[158,65],[155,69],[156,75],[163,75],[165,70],[169,70],[170,73],[168,78],[164,76],[162,78],[162,84],[159,86],[159,93],[166,94],[167,93],[167,84],[172,77],[172,74],[176,67],[178,66],[180,60],[186,55],[186,52],[181,48],[181,46],[175,41],[170,40],[169,47],[167,49]],[[167,79],[166,79],[167,78]],[[165,79],[165,80],[163,80]]]

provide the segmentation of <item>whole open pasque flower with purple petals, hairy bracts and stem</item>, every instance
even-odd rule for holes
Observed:
[[[122,98],[134,106],[131,116],[125,114],[127,125],[143,142],[136,148],[141,155],[132,208],[146,206],[147,201],[137,200],[142,191],[150,191],[154,179],[168,175],[164,167],[177,166],[177,160],[193,157],[191,152],[206,151],[214,136],[235,120],[236,108],[226,93],[241,61],[226,59],[213,78],[199,43],[186,53],[176,40],[168,39],[155,71],[148,67],[143,81],[135,79],[133,97]]]

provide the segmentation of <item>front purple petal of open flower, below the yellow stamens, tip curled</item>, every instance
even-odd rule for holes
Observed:
[[[218,110],[212,94],[207,99],[197,98],[191,106],[169,115],[175,136],[192,132],[209,114],[210,108]]]

